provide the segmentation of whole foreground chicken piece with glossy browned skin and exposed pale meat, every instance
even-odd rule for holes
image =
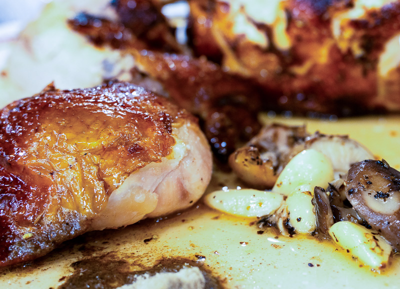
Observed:
[[[0,265],[188,207],[210,174],[196,119],[165,98],[124,82],[49,85],[0,111]]]

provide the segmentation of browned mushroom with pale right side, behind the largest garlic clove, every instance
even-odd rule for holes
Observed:
[[[310,135],[305,126],[266,125],[246,146],[229,157],[229,165],[239,178],[254,187],[270,188],[288,161],[304,149],[322,152],[332,163],[335,178],[372,153],[347,135]]]

